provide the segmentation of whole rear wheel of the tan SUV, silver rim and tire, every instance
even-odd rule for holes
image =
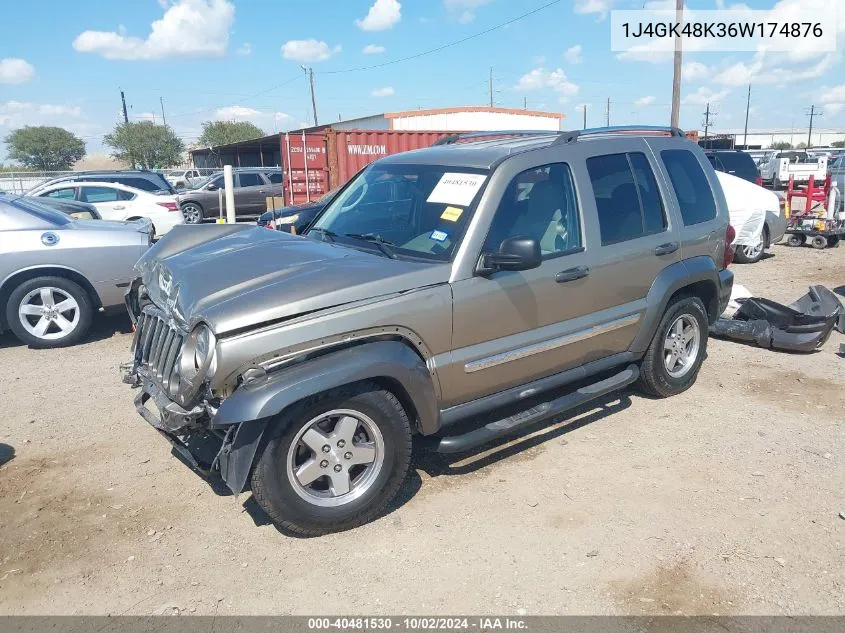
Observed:
[[[640,388],[658,398],[689,389],[707,353],[707,331],[707,311],[701,299],[675,298],[640,364]]]

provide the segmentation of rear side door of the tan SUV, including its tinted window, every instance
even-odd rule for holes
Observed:
[[[587,146],[588,142],[585,141]],[[681,240],[658,182],[659,168],[642,138],[602,143],[613,153],[590,151],[585,180],[595,201],[598,235],[590,265],[592,307],[615,318],[635,322],[646,308],[646,296],[660,272],[681,258]],[[628,349],[638,327],[626,328],[614,349]]]

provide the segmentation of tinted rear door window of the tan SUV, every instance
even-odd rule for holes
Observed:
[[[666,229],[663,201],[642,152],[587,159],[596,197],[601,243],[615,244]]]

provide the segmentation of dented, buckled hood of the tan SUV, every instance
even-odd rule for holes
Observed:
[[[449,278],[448,265],[248,225],[176,226],[136,268],[156,304],[217,334]]]

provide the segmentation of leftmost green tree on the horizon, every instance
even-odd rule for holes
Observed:
[[[32,169],[70,169],[85,156],[82,139],[60,127],[26,126],[11,132],[4,141],[9,158]]]

